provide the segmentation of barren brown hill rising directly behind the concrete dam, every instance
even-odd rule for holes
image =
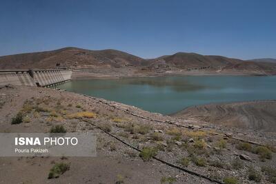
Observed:
[[[119,50],[84,50],[62,48],[46,52],[15,54],[0,57],[1,69],[55,68],[60,63],[64,68],[122,68],[140,65],[141,59]]]

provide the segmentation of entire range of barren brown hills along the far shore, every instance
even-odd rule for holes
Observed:
[[[14,54],[0,57],[0,69],[89,69],[90,72],[110,73],[110,69],[126,68],[124,72],[157,74],[170,71],[172,74],[276,74],[276,63],[243,61],[222,56],[177,52],[156,59],[142,59],[119,50],[85,50],[61,48],[46,52]],[[135,69],[135,70],[132,70]],[[143,71],[142,71],[143,70]],[[123,70],[115,73],[122,74]],[[185,73],[186,72],[186,73]],[[187,73],[188,72],[188,73]],[[113,74],[114,75],[114,74]]]

